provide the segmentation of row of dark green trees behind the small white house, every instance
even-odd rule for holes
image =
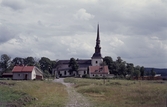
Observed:
[[[48,77],[52,73],[52,68],[56,66],[56,61],[52,61],[47,57],[41,57],[40,59],[34,57],[15,57],[11,59],[11,57],[7,54],[2,54],[0,59],[0,76],[3,73],[11,72],[14,66],[36,66],[40,68],[45,77]]]

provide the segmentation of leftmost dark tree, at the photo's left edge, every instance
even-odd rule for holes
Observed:
[[[11,57],[8,56],[7,54],[2,54],[0,65],[3,69],[3,72],[7,72],[8,67],[10,66],[10,63],[11,63]]]

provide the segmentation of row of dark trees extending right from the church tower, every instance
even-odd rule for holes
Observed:
[[[145,71],[144,66],[134,66],[133,63],[127,63],[126,61],[123,61],[121,57],[117,57],[116,61],[113,61],[113,59],[110,56],[106,56],[103,58],[103,64],[102,65],[108,65],[108,69],[110,74],[114,74],[117,77],[125,78],[128,76],[129,78],[132,77],[144,77],[147,76],[155,76],[156,72],[152,68],[151,71]]]

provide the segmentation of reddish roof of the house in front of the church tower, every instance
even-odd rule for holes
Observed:
[[[109,74],[108,66],[89,66],[90,74]]]

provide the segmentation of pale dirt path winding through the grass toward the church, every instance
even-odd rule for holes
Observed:
[[[66,89],[68,92],[69,101],[66,104],[66,107],[90,107],[87,99],[81,94],[77,93],[72,87],[71,83],[65,83],[64,78],[55,79],[54,82],[60,82],[67,87]]]

